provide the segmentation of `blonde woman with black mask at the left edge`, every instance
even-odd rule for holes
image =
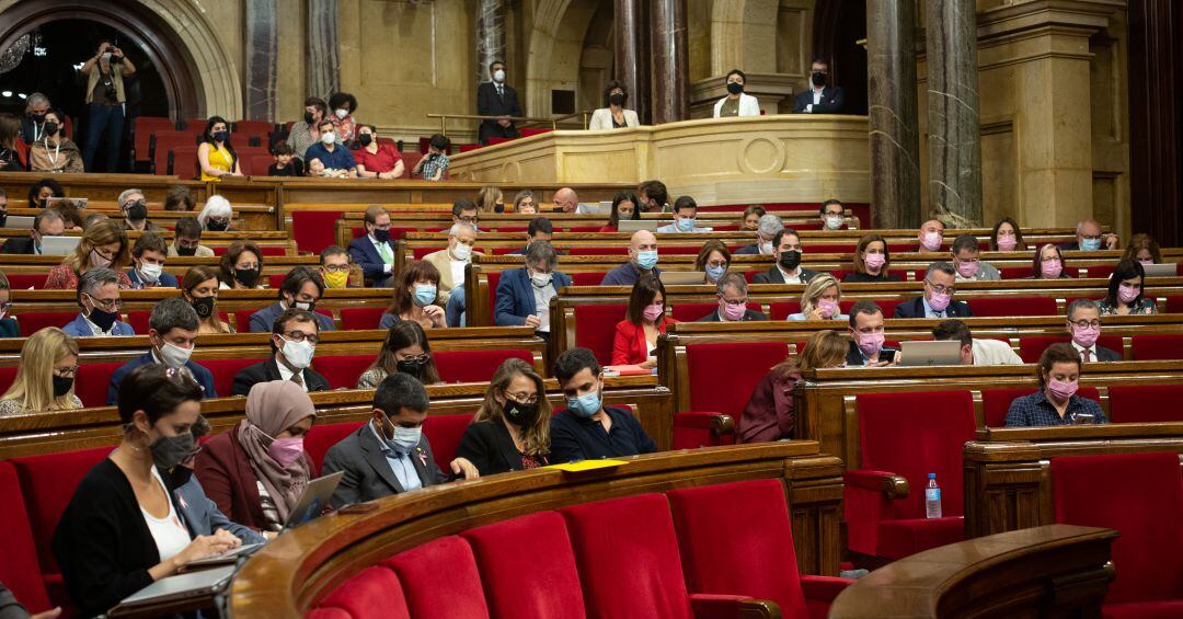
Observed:
[[[17,379],[0,399],[0,417],[82,408],[73,393],[78,343],[57,327],[34,333],[20,349]]]

